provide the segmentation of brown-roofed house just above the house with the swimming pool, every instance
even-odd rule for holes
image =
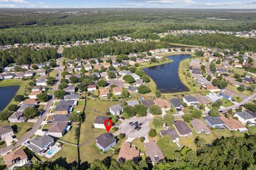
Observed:
[[[50,129],[47,131],[52,137],[61,138],[68,128],[68,122],[53,122]]]

